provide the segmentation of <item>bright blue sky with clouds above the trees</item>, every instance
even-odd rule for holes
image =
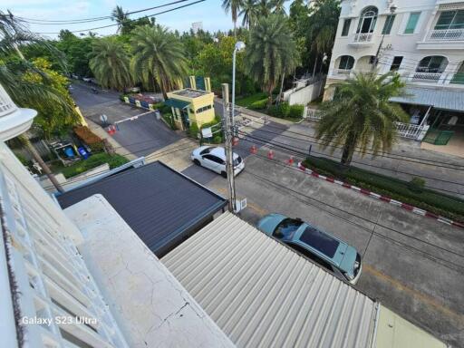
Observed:
[[[169,4],[173,1],[175,0],[0,0],[0,9],[2,11],[10,10],[14,15],[28,19],[63,21],[110,15],[111,10],[116,5],[121,5],[125,11],[131,12],[156,5]],[[140,14],[132,14],[131,18],[155,14],[195,1],[189,0],[186,3],[170,5]],[[177,29],[179,32],[189,30],[193,22],[202,22],[204,30],[225,31],[231,29],[233,24],[230,14],[224,12],[221,3],[221,0],[206,0],[203,3],[191,5],[168,14],[160,14],[157,16],[157,23],[168,26],[172,30]],[[239,23],[241,23],[241,20]],[[84,24],[29,24],[29,28],[36,33],[42,34],[59,32],[60,29],[83,30],[107,24],[114,24],[114,22],[107,19]],[[116,27],[93,31],[102,35],[114,34]],[[56,37],[56,34],[44,35],[51,38]]]

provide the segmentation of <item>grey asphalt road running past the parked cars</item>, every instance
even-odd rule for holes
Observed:
[[[95,97],[85,91],[78,93],[82,93],[76,98],[83,100],[82,111],[93,120],[102,112],[111,120],[140,113],[121,105],[111,95]],[[102,99],[99,105],[94,105],[89,102],[92,98]],[[115,135],[122,146],[140,153],[158,150],[160,160],[210,189],[227,194],[226,179],[191,165],[191,149],[163,151],[163,147],[175,149],[176,143],[187,140],[150,115],[144,121],[141,119],[126,122]],[[271,123],[259,131],[251,130],[251,135],[260,139],[267,137],[266,141],[288,140],[286,127],[281,131],[275,127]],[[139,148],[140,140],[146,141],[150,149]],[[274,160],[267,160],[263,143],[258,144],[261,147],[258,153],[252,155],[251,145],[247,140],[240,140],[237,146],[237,152],[246,158],[246,169],[237,177],[237,197],[246,197],[248,202],[248,208],[240,213],[241,218],[256,224],[262,216],[280,212],[303,218],[342,238],[363,255],[358,289],[444,342],[464,347],[462,229],[315,179],[286,166],[288,155],[277,151]]]

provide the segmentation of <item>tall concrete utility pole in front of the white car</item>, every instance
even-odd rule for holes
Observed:
[[[224,107],[224,137],[226,138],[228,209],[229,211],[234,212],[236,211],[236,184],[234,178],[234,154],[232,151],[232,139],[234,138],[234,129],[232,124],[232,115],[228,103],[227,83],[222,83],[222,101]]]

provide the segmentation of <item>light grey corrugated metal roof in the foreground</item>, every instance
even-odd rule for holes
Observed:
[[[161,261],[239,347],[371,344],[371,298],[230,213]]]

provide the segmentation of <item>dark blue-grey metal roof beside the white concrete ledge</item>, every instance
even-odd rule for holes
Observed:
[[[157,256],[196,232],[227,200],[160,161],[57,196],[62,208],[102,194]]]

